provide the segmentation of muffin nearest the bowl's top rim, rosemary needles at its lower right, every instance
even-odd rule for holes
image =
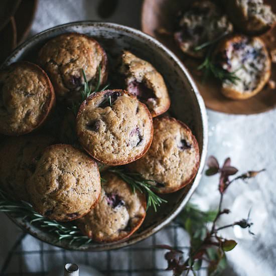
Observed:
[[[95,88],[101,67],[100,84],[107,80],[107,56],[100,44],[91,37],[68,33],[48,41],[39,51],[39,62],[49,74],[57,97],[75,98],[87,81]]]

